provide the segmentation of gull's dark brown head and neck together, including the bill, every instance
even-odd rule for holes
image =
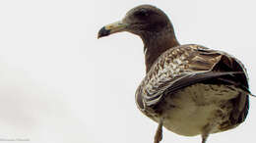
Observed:
[[[121,21],[103,26],[98,31],[97,37],[120,31],[129,31],[142,38],[147,71],[164,51],[179,45],[168,17],[151,5],[133,8]]]

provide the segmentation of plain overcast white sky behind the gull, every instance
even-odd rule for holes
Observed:
[[[140,4],[162,9],[180,43],[240,59],[255,94],[253,0],[1,0],[0,140],[152,143],[157,123],[134,101],[145,75],[141,39],[127,32],[96,39],[100,27]],[[211,135],[208,142],[255,142],[255,107],[251,98],[246,121]],[[162,143],[174,142],[201,139],[164,129]]]

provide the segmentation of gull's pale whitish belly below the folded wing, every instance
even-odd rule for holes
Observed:
[[[228,100],[238,95],[238,91],[226,86],[195,84],[169,96],[165,108],[172,108],[162,113],[163,126],[177,134],[194,136],[212,123],[210,133],[219,132],[219,125],[229,118],[232,109]]]

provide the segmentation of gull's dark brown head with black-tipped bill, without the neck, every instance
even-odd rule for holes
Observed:
[[[141,5],[130,10],[123,20],[103,26],[97,37],[129,31],[143,38],[145,34],[158,33],[166,28],[173,30],[167,16],[160,9],[151,5]]]

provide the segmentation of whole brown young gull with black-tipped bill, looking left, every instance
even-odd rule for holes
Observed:
[[[248,74],[235,57],[198,44],[181,45],[167,15],[156,6],[140,5],[116,23],[99,29],[97,38],[127,31],[144,43],[146,75],[138,86],[138,109],[162,127],[183,136],[235,128],[248,114]]]

